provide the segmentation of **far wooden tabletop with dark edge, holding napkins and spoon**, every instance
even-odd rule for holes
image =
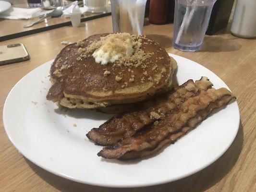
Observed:
[[[82,0],[79,1],[82,3]],[[72,1],[67,1],[67,4],[72,3]],[[17,8],[29,8],[27,4],[27,0],[14,0],[12,7]],[[85,12],[81,15],[81,21],[88,21],[91,19],[96,19],[99,17],[104,17],[106,15],[110,15],[111,8],[110,4],[107,4],[106,6],[107,13],[90,13]],[[48,10],[42,10],[42,11],[48,11]],[[46,18],[44,21],[35,24],[31,27],[24,28],[23,26],[25,24],[28,24],[30,22],[33,22],[37,20],[38,17],[34,19],[28,19],[28,20],[9,20],[9,19],[0,19],[0,41],[17,38],[20,36],[26,36],[35,34],[42,31],[47,31],[50,29],[55,29],[63,26],[71,25],[70,18],[65,17],[55,17],[55,18]]]

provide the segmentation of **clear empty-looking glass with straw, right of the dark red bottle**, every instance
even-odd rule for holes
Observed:
[[[216,0],[175,0],[172,45],[182,51],[202,48]]]

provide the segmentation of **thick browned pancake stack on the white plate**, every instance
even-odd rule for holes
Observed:
[[[67,108],[105,108],[136,103],[170,89],[176,61],[146,36],[132,36],[139,42],[134,55],[143,55],[129,62],[121,58],[102,65],[92,56],[94,50],[83,53],[108,35],[89,36],[61,50],[50,69],[48,100]]]

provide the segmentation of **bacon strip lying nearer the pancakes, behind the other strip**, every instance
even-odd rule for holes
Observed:
[[[199,89],[207,90],[212,83],[207,77],[198,81],[188,80],[174,87],[162,96],[147,101],[137,108],[128,110],[106,121],[99,128],[93,128],[86,136],[96,144],[114,145],[122,138],[133,136],[146,125],[162,119],[187,98],[195,96]]]

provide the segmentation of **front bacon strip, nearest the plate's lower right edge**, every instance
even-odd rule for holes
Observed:
[[[169,113],[158,125],[152,125],[140,135],[123,139],[113,147],[105,147],[98,156],[104,158],[132,159],[156,153],[165,144],[174,142],[207,118],[214,108],[219,108],[235,98],[226,88],[200,90]]]

